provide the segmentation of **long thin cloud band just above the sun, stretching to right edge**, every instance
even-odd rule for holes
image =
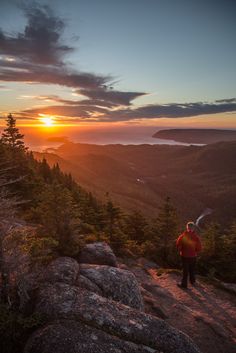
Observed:
[[[88,100],[89,102],[89,100]],[[73,102],[71,105],[55,105],[25,110],[24,114],[40,113],[58,115],[65,121],[73,118],[97,121],[132,121],[142,119],[188,118],[199,115],[227,113],[236,111],[236,103],[171,103],[146,105],[139,108],[118,108],[116,110],[86,104],[86,100]],[[75,120],[74,120],[75,121]]]

